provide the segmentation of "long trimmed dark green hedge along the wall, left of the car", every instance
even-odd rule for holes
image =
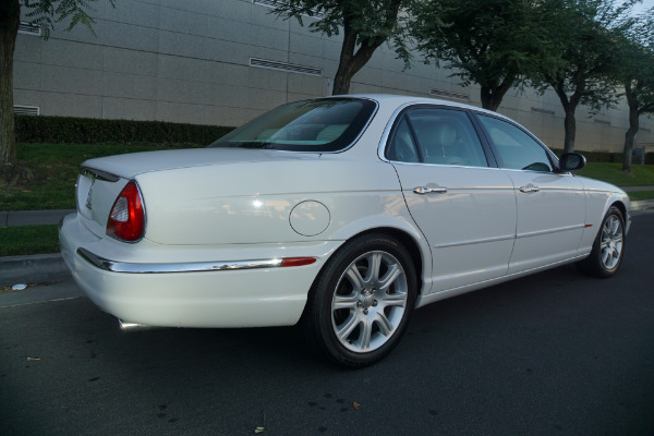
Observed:
[[[15,116],[21,143],[159,143],[208,145],[234,128],[162,121]]]

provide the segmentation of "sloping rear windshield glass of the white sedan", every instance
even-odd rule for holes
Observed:
[[[216,141],[209,147],[338,152],[361,134],[376,104],[359,98],[325,98],[280,106]]]

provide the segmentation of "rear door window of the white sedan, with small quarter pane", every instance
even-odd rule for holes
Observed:
[[[419,107],[404,112],[386,155],[403,162],[488,166],[468,114],[446,108]]]

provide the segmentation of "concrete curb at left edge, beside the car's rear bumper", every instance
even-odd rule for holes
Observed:
[[[0,287],[64,280],[70,277],[59,253],[0,257]]]

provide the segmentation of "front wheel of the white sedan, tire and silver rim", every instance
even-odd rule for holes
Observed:
[[[620,209],[611,206],[593,242],[589,257],[577,263],[578,268],[593,277],[607,278],[614,276],[625,257],[625,217]]]

